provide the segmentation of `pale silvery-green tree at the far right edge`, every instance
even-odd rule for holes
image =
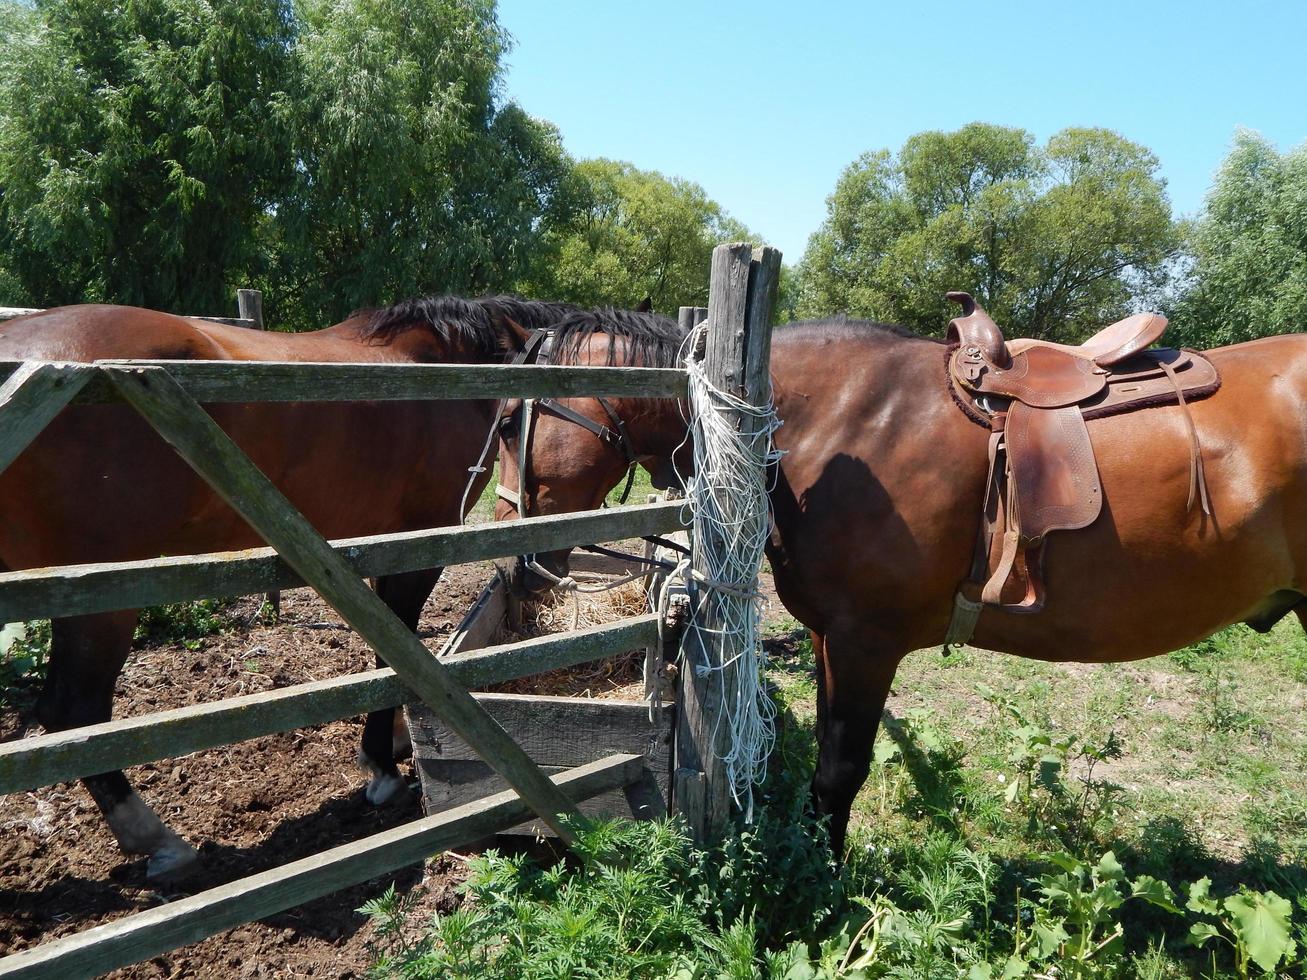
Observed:
[[[1307,328],[1307,145],[1280,154],[1235,133],[1189,235],[1180,342],[1235,344]]]

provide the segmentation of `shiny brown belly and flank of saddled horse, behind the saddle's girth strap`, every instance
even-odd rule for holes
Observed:
[[[1090,422],[1102,514],[1084,531],[1048,534],[1043,612],[985,610],[978,645],[1042,660],[1137,660],[1291,608],[1307,559],[1303,399],[1299,385],[1268,385],[1255,371],[1222,374],[1222,389],[1191,406],[1212,514],[1189,503],[1178,406]]]

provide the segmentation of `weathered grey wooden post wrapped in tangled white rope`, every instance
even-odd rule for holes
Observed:
[[[762,248],[759,256],[754,259],[753,248],[744,243],[723,244],[714,250],[707,345],[703,355],[708,380],[753,405],[765,405],[771,396],[771,310],[780,272],[778,250]],[[736,414],[733,422],[750,442],[765,438],[765,433],[746,417]],[[698,554],[694,566],[703,570]],[[707,841],[729,826],[731,785],[721,762],[725,754],[725,732],[718,724],[721,713],[721,676],[714,670],[699,677],[695,670],[695,665],[706,660],[699,645],[702,638],[712,636],[712,631],[719,627],[714,622],[711,604],[701,606],[699,626],[701,630],[686,631],[681,651],[672,785],[676,810],[685,817],[694,836]],[[727,644],[733,638],[719,636],[718,642]],[[714,662],[729,660],[732,652],[725,649],[712,657]]]

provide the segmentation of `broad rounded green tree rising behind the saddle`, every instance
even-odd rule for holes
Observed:
[[[1157,169],[1106,129],[1038,148],[983,123],[864,154],[809,240],[799,312],[938,333],[962,289],[1013,335],[1082,338],[1165,278],[1178,237]]]

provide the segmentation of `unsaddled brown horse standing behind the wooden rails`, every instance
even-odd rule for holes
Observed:
[[[115,306],[48,310],[0,324],[0,361],[99,358],[480,363],[520,349],[525,328],[571,307],[511,298],[416,299],[311,333],[265,333]],[[327,537],[457,524],[495,401],[214,405],[210,414]],[[486,477],[473,481],[474,500]],[[119,562],[263,542],[124,405],[71,406],[0,473],[0,570]],[[440,568],[387,575],[376,591],[409,629]],[[37,720],[50,732],[107,721],[136,610],[56,619]],[[361,762],[371,802],[404,788],[393,711],[369,716]],[[403,747],[403,746],[401,746]],[[122,848],[152,877],[196,853],[122,772],[84,780]]]

